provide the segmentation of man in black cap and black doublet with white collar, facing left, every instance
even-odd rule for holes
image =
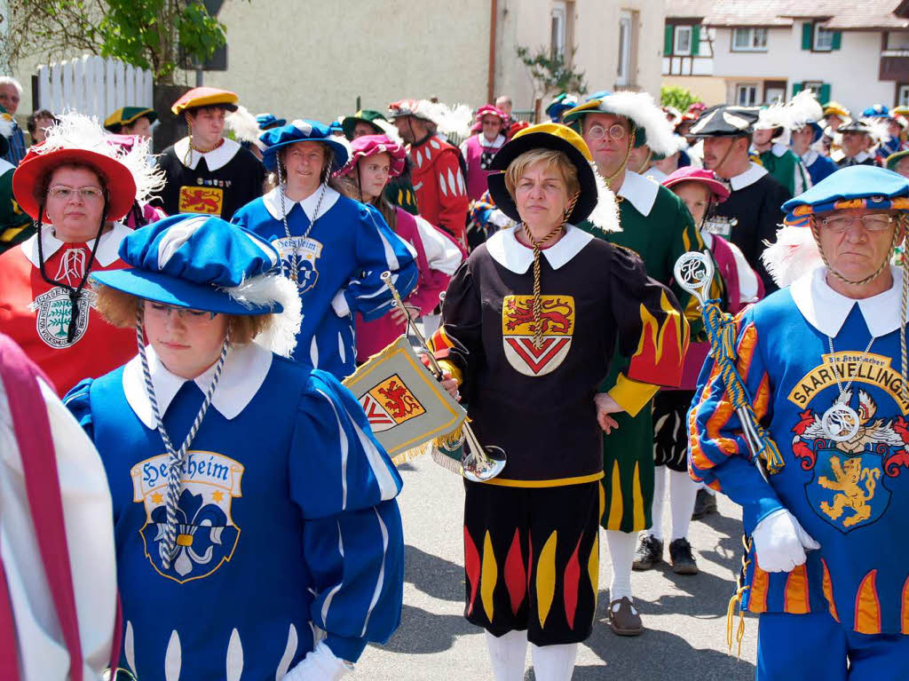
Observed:
[[[729,198],[716,206],[707,227],[739,247],[770,293],[776,285],[761,262],[761,253],[764,241],[776,240],[776,226],[783,217],[780,206],[792,195],[748,156],[759,115],[756,106],[712,106],[697,119],[690,135],[704,140],[704,167],[732,189]]]

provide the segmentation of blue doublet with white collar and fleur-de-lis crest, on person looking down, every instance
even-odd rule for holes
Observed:
[[[149,347],[179,446],[204,399]],[[210,370],[211,371],[211,370]],[[225,362],[186,456],[175,556],[161,559],[167,455],[138,358],[67,396],[114,499],[124,641],[138,678],[284,676],[314,647],[355,660],[401,613],[401,479],[335,378],[251,344]]]

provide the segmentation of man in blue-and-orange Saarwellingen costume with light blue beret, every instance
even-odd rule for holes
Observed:
[[[742,506],[747,554],[729,616],[736,603],[759,616],[758,681],[897,681],[909,659],[909,278],[891,257],[909,182],[844,168],[783,210],[784,229],[806,238],[768,249],[774,275],[814,265],[733,328],[736,371],[782,461],[754,465],[708,359],[688,468]]]

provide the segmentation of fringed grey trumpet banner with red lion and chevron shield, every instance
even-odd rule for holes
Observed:
[[[467,417],[404,335],[370,357],[344,385],[396,465],[428,452],[436,437],[456,430]]]

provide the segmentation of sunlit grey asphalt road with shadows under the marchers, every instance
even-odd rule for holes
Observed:
[[[370,646],[347,678],[371,681],[492,679],[483,631],[464,610],[464,487],[425,456],[402,468],[406,566],[401,626],[385,646]],[[668,515],[668,504],[667,515]],[[757,620],[745,618],[742,658],[726,653],[726,606],[741,559],[737,507],[692,523],[689,540],[701,574],[678,576],[661,564],[632,576],[643,636],[614,636],[605,624],[611,563],[600,542],[600,597],[594,634],[580,647],[575,681],[751,681]],[[668,518],[666,518],[668,522]],[[669,527],[665,527],[668,536]],[[668,555],[668,548],[667,548]],[[736,620],[736,626],[738,622]],[[525,679],[533,679],[530,654]]]

